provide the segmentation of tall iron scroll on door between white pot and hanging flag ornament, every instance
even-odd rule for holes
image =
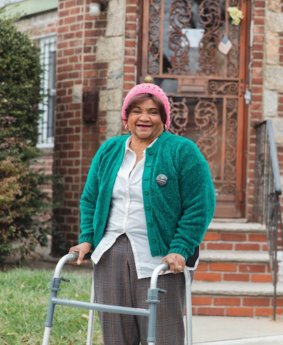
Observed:
[[[220,41],[221,8],[217,0],[204,0],[198,8],[200,23],[205,29],[205,34],[199,46],[200,70],[206,75],[216,72],[216,52]]]

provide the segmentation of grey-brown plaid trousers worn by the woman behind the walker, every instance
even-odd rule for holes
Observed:
[[[96,302],[116,306],[148,308],[150,278],[138,279],[132,246],[126,235],[103,254],[94,266]],[[156,313],[156,345],[184,345],[185,277],[183,273],[158,277],[160,293]],[[147,344],[148,318],[99,312],[104,345]]]

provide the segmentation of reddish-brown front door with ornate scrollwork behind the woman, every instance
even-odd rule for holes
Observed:
[[[244,14],[231,23],[227,8]],[[232,48],[220,52],[222,37]],[[169,131],[194,141],[209,163],[216,217],[243,217],[247,3],[144,0],[140,82],[158,84],[171,103]]]

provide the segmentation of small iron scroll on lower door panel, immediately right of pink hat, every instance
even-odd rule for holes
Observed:
[[[171,126],[169,132],[182,136],[189,121],[189,109],[186,99],[183,98],[180,102],[174,102],[170,97],[169,101],[171,106]]]

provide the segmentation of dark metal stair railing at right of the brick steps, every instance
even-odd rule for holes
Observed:
[[[272,282],[274,286],[273,319],[276,318],[277,245],[278,233],[283,245],[280,195],[282,186],[277,150],[271,120],[255,125],[255,190],[253,217],[266,226]]]

